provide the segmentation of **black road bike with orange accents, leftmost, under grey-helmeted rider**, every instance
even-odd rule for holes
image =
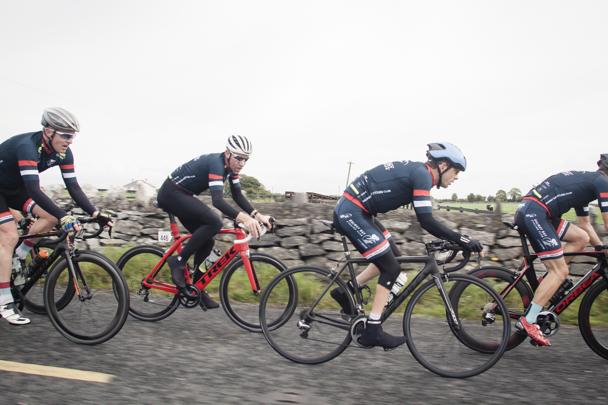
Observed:
[[[92,217],[77,219],[97,223]],[[102,232],[100,226],[84,238]],[[72,342],[95,345],[114,337],[125,324],[129,308],[128,287],[117,266],[102,254],[77,249],[75,233],[52,230],[21,235],[19,240],[39,237],[45,239],[33,247],[36,257],[29,265],[13,270],[11,286],[18,308],[48,314],[59,333]]]

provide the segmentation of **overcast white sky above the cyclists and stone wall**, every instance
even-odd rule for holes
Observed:
[[[3,1],[0,141],[61,106],[80,184],[159,187],[243,134],[244,174],[336,194],[347,162],[444,140],[469,168],[436,198],[525,193],[608,151],[606,21],[605,1]]]

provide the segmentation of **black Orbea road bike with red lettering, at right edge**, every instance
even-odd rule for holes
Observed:
[[[536,254],[530,254],[525,234],[518,229],[514,223],[503,221],[505,226],[519,232],[523,247],[523,261],[517,271],[511,271],[499,266],[482,266],[469,271],[467,274],[488,281],[494,288],[500,291],[500,296],[506,302],[508,314],[517,322],[523,316],[534,297],[534,291],[538,288],[542,279],[547,276],[545,271],[542,277],[536,278],[533,261]],[[537,317],[537,325],[541,327],[543,334],[547,337],[553,336],[559,330],[559,314],[563,313],[568,306],[582,296],[589,289],[581,301],[578,311],[578,325],[582,338],[587,345],[599,356],[608,359],[608,264],[605,249],[608,243],[595,246],[595,251],[564,252],[564,256],[587,256],[598,260],[598,263],[587,272],[584,277],[573,285],[572,280],[565,279],[558,291],[551,297],[546,310],[541,311]],[[525,275],[528,283],[525,282]],[[452,288],[450,296],[456,300],[463,294],[460,286]],[[489,308],[489,313],[502,316],[499,308]],[[514,328],[513,328],[514,330]],[[506,350],[519,345],[527,338],[527,335],[514,331],[509,339]],[[463,339],[463,344],[468,345],[481,353],[491,353],[499,346],[497,341]],[[531,341],[532,345],[537,345]]]

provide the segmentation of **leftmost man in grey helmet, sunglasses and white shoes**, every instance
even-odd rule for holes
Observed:
[[[58,220],[67,232],[80,230],[76,218],[66,215],[40,190],[38,173],[59,166],[67,192],[76,204],[100,224],[113,226],[109,215],[95,209],[76,181],[74,156],[69,148],[80,131],[76,117],[63,108],[46,108],[41,124],[42,131],[16,135],[0,144],[0,315],[11,325],[29,324],[30,320],[16,308],[10,292],[11,262],[18,235],[9,209],[40,216],[30,228],[30,234],[48,232]],[[39,240],[23,241],[16,249],[19,259],[25,260]]]

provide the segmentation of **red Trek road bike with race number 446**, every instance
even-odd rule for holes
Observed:
[[[156,201],[154,206],[158,207]],[[237,238],[230,249],[213,263],[213,266],[209,269],[206,269],[202,263],[199,269],[186,266],[187,296],[172,283],[171,271],[165,264],[170,255],[181,252],[182,243],[192,235],[179,235],[173,214],[167,213],[174,238],[174,243],[169,249],[143,244],[126,251],[117,261],[133,293],[129,308],[131,316],[140,320],[161,320],[174,313],[179,305],[185,308],[195,308],[200,305],[206,311],[207,308],[200,299],[200,291],[209,285],[219,272],[226,269],[219,283],[219,299],[224,311],[241,328],[261,331],[258,324],[260,296],[269,280],[287,269],[285,263],[266,253],[251,253],[247,242],[253,235],[247,236],[242,229],[244,225],[235,221],[233,229],[219,231],[220,234],[232,234]],[[266,233],[266,227],[262,226],[262,229],[263,235]],[[293,284],[291,280],[288,280],[288,283]],[[278,316],[274,323],[271,322],[271,327],[280,325],[281,322],[283,318]]]

